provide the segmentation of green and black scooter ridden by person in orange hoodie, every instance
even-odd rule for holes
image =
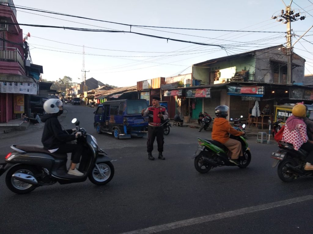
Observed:
[[[245,124],[243,128],[245,128]],[[239,128],[238,130],[240,131]],[[240,141],[243,156],[239,157],[240,164],[238,167],[246,168],[251,162],[251,153],[246,139],[243,136],[233,135],[230,135],[230,138]],[[211,139],[198,138],[198,148],[192,158],[194,158],[194,167],[200,173],[207,173],[215,167],[237,166],[229,162],[227,147]]]

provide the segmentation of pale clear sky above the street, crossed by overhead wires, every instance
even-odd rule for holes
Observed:
[[[73,82],[81,82],[86,75],[86,79],[93,77],[118,87],[191,73],[192,64],[285,44],[286,24],[271,17],[280,15],[285,4],[290,5],[290,0],[13,2],[15,7],[28,8],[16,9],[18,23],[62,27],[20,25],[23,36],[28,32],[31,35],[27,42],[32,63],[43,66],[43,79],[54,81],[69,76]],[[312,26],[313,0],[294,0],[291,8],[306,17],[291,23],[294,43]],[[64,27],[123,32],[86,32]],[[305,58],[305,74],[313,74],[313,28],[294,45],[294,52]]]

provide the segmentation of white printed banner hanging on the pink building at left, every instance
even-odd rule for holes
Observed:
[[[0,92],[37,95],[37,84],[30,82],[0,81]]]

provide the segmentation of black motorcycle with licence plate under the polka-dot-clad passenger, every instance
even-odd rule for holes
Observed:
[[[278,147],[280,149],[271,155],[274,158],[272,167],[275,168],[278,164],[277,173],[282,181],[291,182],[299,176],[313,176],[313,171],[304,169],[307,151],[295,150],[292,144],[283,141],[278,142]]]

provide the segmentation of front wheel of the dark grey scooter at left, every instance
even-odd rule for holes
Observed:
[[[99,170],[95,166],[90,172],[88,178],[95,185],[105,185],[111,181],[114,176],[114,166],[111,162],[97,163]]]

